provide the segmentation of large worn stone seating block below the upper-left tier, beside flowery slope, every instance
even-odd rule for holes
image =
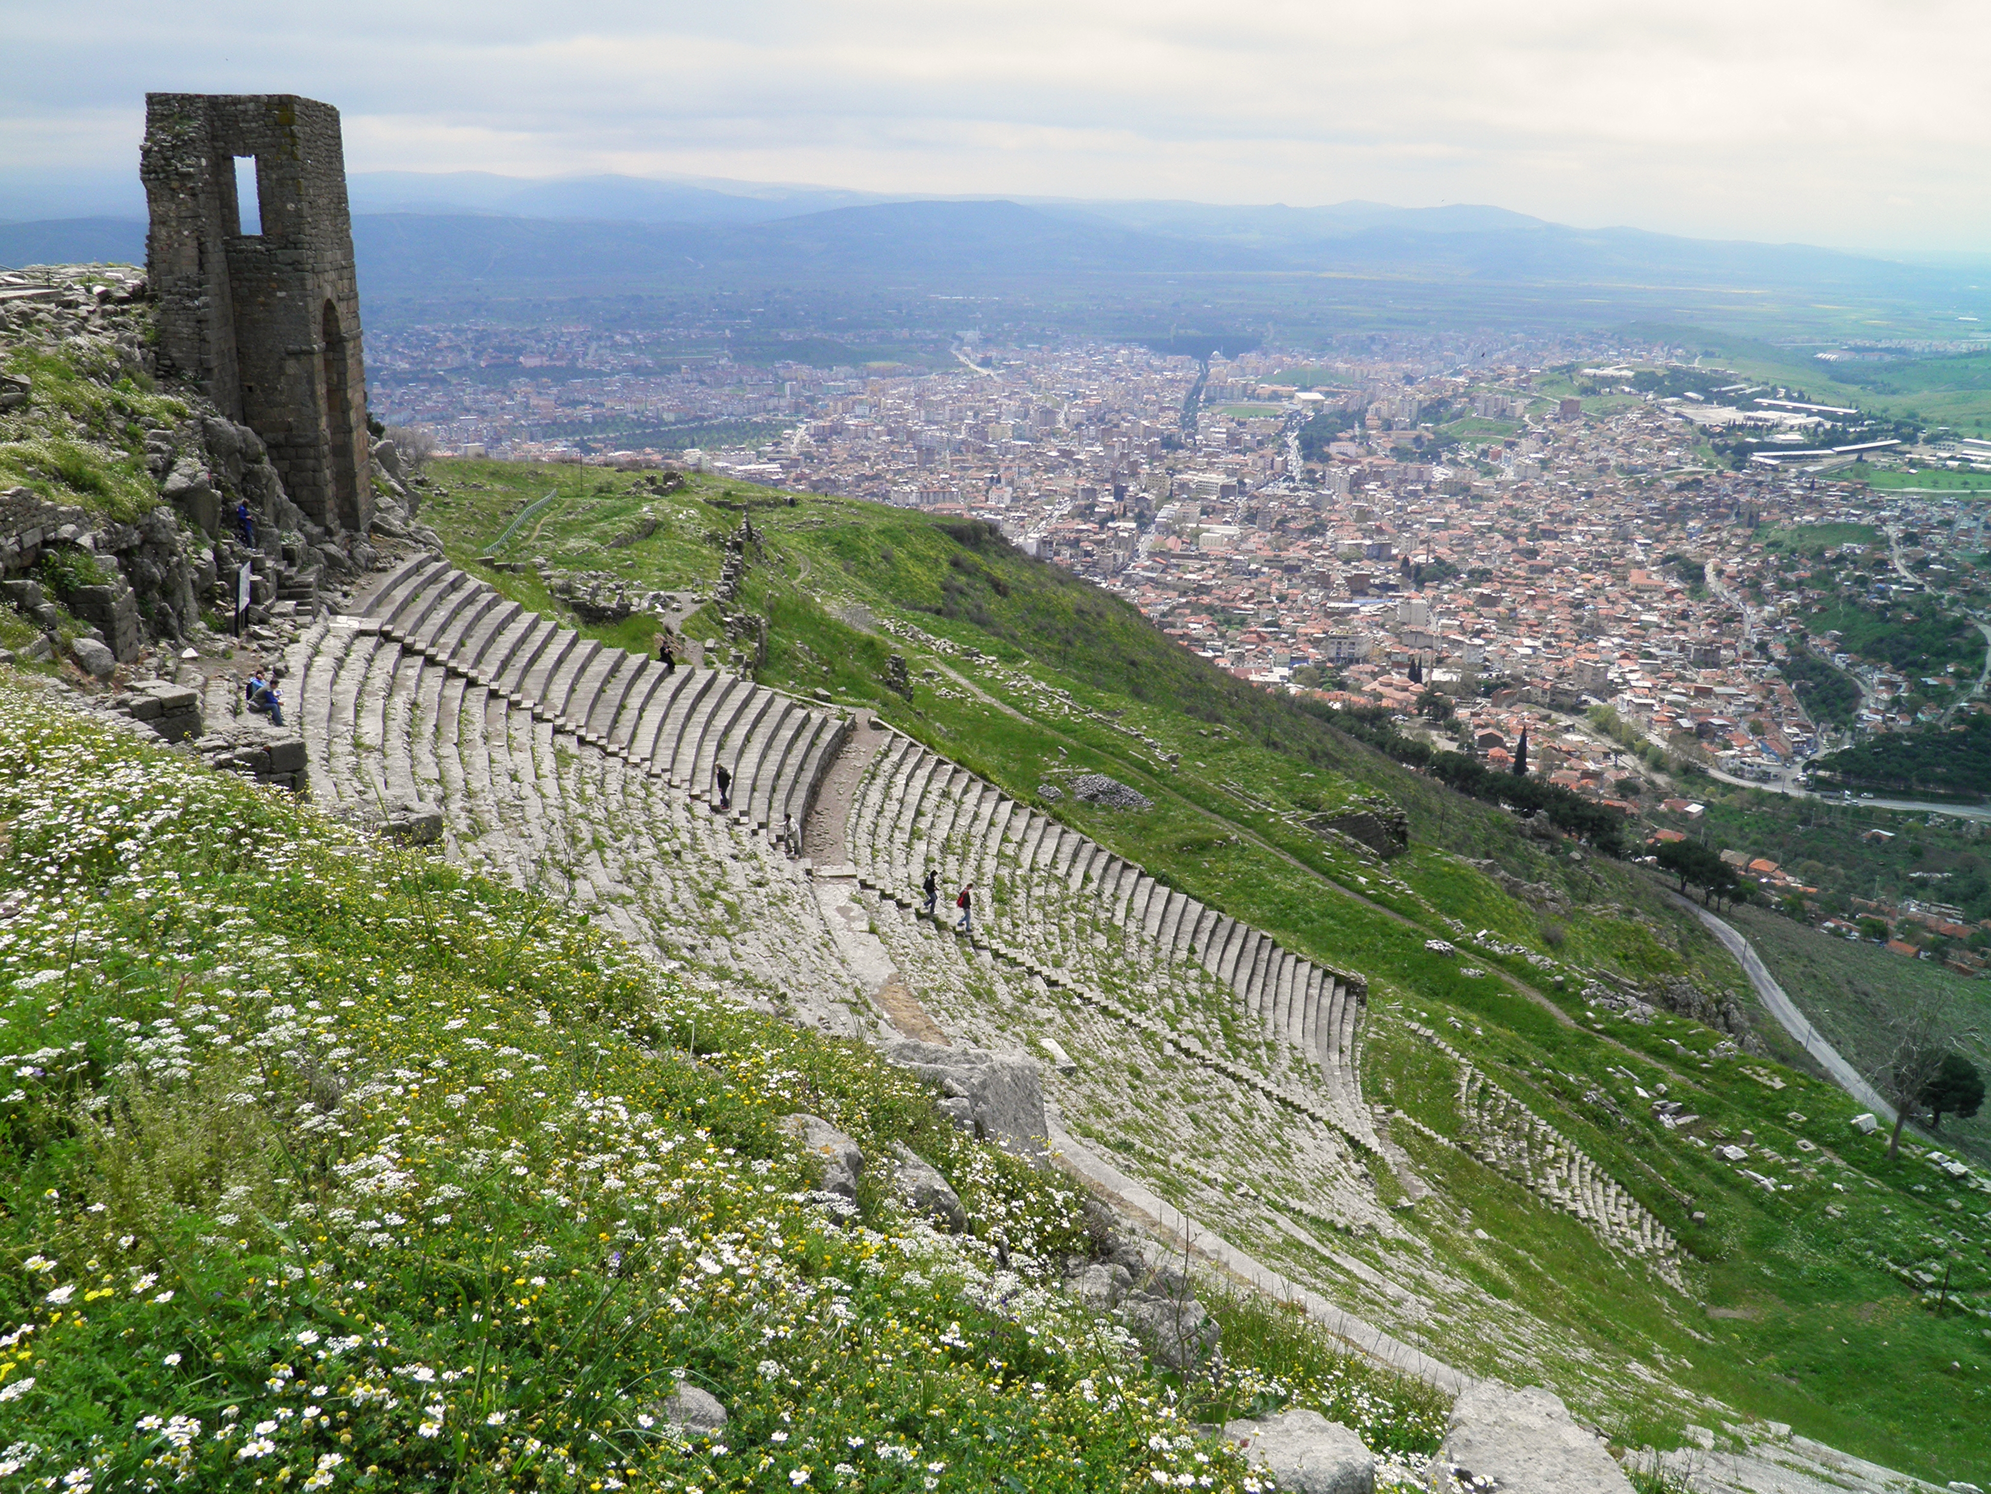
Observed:
[[[313,793],[376,819],[444,811],[452,859],[571,898],[661,962],[737,972],[747,996],[804,1014],[862,1002],[800,863],[639,763],[380,633],[331,618],[293,649]]]

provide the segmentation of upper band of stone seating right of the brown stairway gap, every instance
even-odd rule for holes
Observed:
[[[1356,1066],[1360,976],[1280,948],[898,733],[866,771],[846,845],[864,884],[900,900],[928,869],[944,904],[974,882],[988,938],[1061,984],[1167,1012],[1205,1048],[1254,1062],[1288,1090],[1308,1072],[1352,1135],[1374,1135]]]

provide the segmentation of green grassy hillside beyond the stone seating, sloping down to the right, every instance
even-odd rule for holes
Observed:
[[[1418,1203],[1396,1169],[1372,1167],[1378,1193],[1404,1205],[1410,1257],[1398,1241],[1332,1233],[1304,1195],[1274,1207],[1244,1179],[1145,1155],[1133,1135],[1093,1137],[1246,1249],[1465,1369],[1537,1372],[1627,1434],[1676,1436],[1684,1420],[1738,1410],[1943,1478],[1969,1476],[1991,1454],[1969,1378],[1985,1369],[1983,1319],[1953,1299],[1937,1313],[1919,1283],[1895,1275],[1921,1269],[1929,1239],[1943,1241],[1981,1311],[1983,1205],[1925,1159],[1883,1163],[1846,1125],[1856,1106],[1836,1090],[1738,1054],[1698,1022],[1593,1006],[1587,992],[1603,974],[1682,976],[1746,1002],[1740,970],[1645,872],[1533,839],[1513,817],[1193,657],[1125,604],[982,526],[834,498],[790,504],[715,478],[657,496],[633,478],[561,468],[440,464],[436,476],[424,520],[472,570],[540,606],[530,570],[476,566],[530,498],[557,494],[510,558],[609,568],[681,600],[713,596],[719,540],[751,506],[763,538],[727,612],[767,620],[763,679],[876,709],[1177,886],[1362,970],[1366,1094],[1406,1112],[1392,1135],[1408,1167],[1438,1185]],[[649,520],[649,538],[603,548]],[[641,641],[649,627],[591,631]],[[711,606],[685,627],[721,647],[759,647],[757,625],[721,641]],[[906,659],[912,699],[886,685],[892,653]],[[1131,783],[1153,809],[1045,793],[1081,771]],[[1406,811],[1406,855],[1386,863],[1308,829],[1372,797]],[[1493,859],[1571,908],[1509,896],[1467,859]],[[1430,950],[1432,938],[1461,954]],[[1688,1293],[1659,1287],[1461,1153],[1457,1062],[1418,1028],[1495,1076],[1672,1229],[1690,1253]],[[1660,1094],[1698,1120],[1662,1125],[1651,1110]],[[1720,1145],[1742,1145],[1748,1159],[1720,1161]],[[1870,1321],[1885,1327],[1850,1331]]]

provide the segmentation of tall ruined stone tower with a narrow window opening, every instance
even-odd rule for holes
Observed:
[[[364,530],[366,367],[338,110],[295,94],[147,94],[139,173],[159,371],[255,430],[311,520]]]

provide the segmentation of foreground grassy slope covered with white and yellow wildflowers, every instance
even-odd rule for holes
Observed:
[[[1240,1490],[1191,1424],[1282,1402],[1436,1446],[1428,1390],[1264,1303],[1211,1297],[1220,1374],[1157,1374],[1055,1289],[1095,1247],[1071,1185],[585,914],[20,683],[0,783],[0,1474]],[[872,1157],[854,1207],[812,1191],[798,1108]],[[968,1235],[894,1201],[894,1141]],[[665,1420],[681,1380],[723,1432]]]

